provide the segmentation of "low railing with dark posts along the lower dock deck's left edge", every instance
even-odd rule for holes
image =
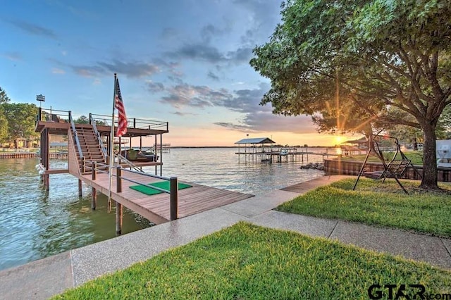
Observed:
[[[109,174],[109,170],[102,170],[102,168],[109,168],[109,165],[106,163],[99,163],[97,161],[85,161],[85,170],[92,170],[92,181],[97,179],[97,173],[106,173]],[[158,175],[152,175],[149,173],[143,173],[135,170],[127,170],[122,168],[121,165],[114,165],[113,168],[116,168],[116,174],[111,173],[111,176],[116,177],[116,192],[122,192],[122,180],[127,180],[128,182],[133,182],[137,185],[142,185],[144,187],[149,187],[151,189],[156,189],[159,192],[163,192],[169,194],[170,196],[170,211],[171,211],[171,220],[176,220],[178,218],[178,179],[177,177],[163,177]],[[132,180],[123,175],[123,173],[132,173],[144,175],[146,177],[158,178],[161,180],[166,180],[169,182],[169,190],[161,189],[160,187],[154,187],[153,185],[147,185],[146,183],[139,182],[137,180]]]

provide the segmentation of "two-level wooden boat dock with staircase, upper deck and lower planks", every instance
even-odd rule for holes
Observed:
[[[89,114],[89,124],[77,124],[70,111],[53,110],[49,113],[39,108],[35,127],[35,131],[41,134],[39,174],[42,175],[44,187],[49,190],[49,175],[70,173],[78,178],[79,196],[82,196],[82,182],[85,182],[92,187],[92,209],[97,206],[97,192],[109,196],[116,204],[118,235],[122,232],[122,206],[155,224],[161,224],[253,196],[192,182],[178,182],[177,177],[163,177],[163,153],[169,149],[169,144],[163,143],[162,136],[169,132],[167,122],[128,119],[127,133],[123,138],[130,139],[130,148],[132,138],[140,139],[141,148],[142,138],[147,137],[153,139],[153,148],[158,151],[152,158],[141,157],[144,159],[137,161],[123,156],[120,149],[116,149],[116,154],[110,157],[113,144],[110,142],[111,126],[98,122],[106,118],[105,115]],[[50,168],[49,135],[67,135],[67,169]],[[121,137],[118,138],[118,144],[122,144]],[[110,160],[113,161],[111,170]],[[154,166],[154,174],[144,173],[144,166]],[[157,182],[163,182],[166,188],[156,187],[154,184]],[[187,188],[179,189],[180,184]],[[136,187],[151,189],[152,192],[146,194]]]

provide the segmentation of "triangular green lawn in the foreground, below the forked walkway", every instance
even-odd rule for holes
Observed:
[[[451,272],[237,223],[54,299],[369,299],[375,283],[443,294],[451,291]]]

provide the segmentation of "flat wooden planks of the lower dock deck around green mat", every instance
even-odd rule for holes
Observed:
[[[113,173],[116,173],[114,170]],[[148,177],[137,173],[123,172],[123,177],[127,177],[137,182],[162,181],[159,178]],[[109,175],[106,173],[98,173],[97,179],[92,181],[92,175],[80,175],[80,179],[96,187],[99,192],[108,194]],[[194,215],[202,211],[208,211],[226,204],[240,201],[252,197],[250,194],[228,191],[226,189],[218,189],[215,187],[206,187],[197,185],[192,182],[183,182],[192,187],[178,190],[178,218],[188,215]],[[130,189],[130,185],[137,185],[135,182],[122,180],[122,192],[116,192],[116,177],[113,176],[111,183],[112,199],[118,201],[124,206],[132,209],[136,213],[140,213],[144,218],[159,224],[170,220],[170,195],[166,193],[147,195]]]

